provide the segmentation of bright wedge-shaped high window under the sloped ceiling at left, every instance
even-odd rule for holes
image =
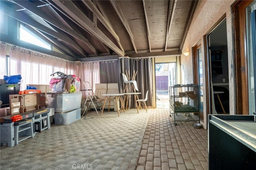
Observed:
[[[46,49],[52,49],[52,46],[49,43],[36,36],[22,25],[20,25],[20,40],[38,45]]]

